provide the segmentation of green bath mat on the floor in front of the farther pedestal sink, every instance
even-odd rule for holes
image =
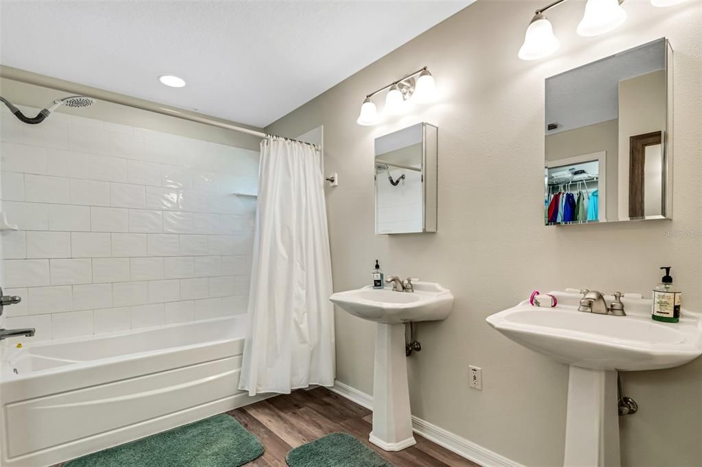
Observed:
[[[348,433],[331,433],[285,456],[290,467],[395,467]]]

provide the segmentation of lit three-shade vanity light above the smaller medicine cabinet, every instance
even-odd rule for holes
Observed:
[[[419,76],[415,80],[414,76],[416,75]],[[366,95],[356,123],[359,125],[374,125],[380,121],[380,114],[378,114],[378,108],[372,97],[388,88],[390,89],[388,94],[385,95],[385,107],[383,108],[383,114],[387,115],[405,114],[409,111],[411,104],[428,104],[435,100],[436,97],[434,76],[432,76],[427,67],[423,67],[398,81]]]

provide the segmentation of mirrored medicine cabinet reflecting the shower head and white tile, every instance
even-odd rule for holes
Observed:
[[[376,138],[376,234],[437,231],[437,132],[417,123]]]

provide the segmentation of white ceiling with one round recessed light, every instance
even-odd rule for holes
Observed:
[[[3,0],[0,63],[263,127],[471,3]]]

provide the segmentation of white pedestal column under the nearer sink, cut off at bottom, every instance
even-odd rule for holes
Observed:
[[[570,367],[563,465],[621,465],[615,371]]]

